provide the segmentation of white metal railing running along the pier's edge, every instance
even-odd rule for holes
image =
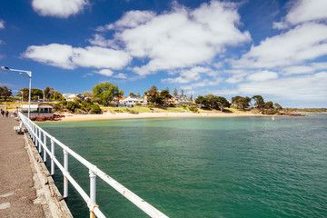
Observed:
[[[31,139],[35,143],[35,146],[38,148],[38,152],[41,154],[42,149],[44,149],[43,160],[46,161],[46,155],[51,159],[50,163],[50,173],[54,175],[54,164],[60,169],[64,175],[64,194],[63,197],[68,197],[68,182],[74,186],[74,189],[82,196],[84,202],[87,203],[87,206],[90,210],[90,217],[105,217],[104,213],[101,212],[99,206],[96,204],[96,176],[100,177],[105,183],[111,185],[118,193],[121,193],[125,198],[130,202],[134,203],[139,209],[144,211],[151,217],[168,217],[165,214],[161,213],[154,208],[149,203],[146,203],[142,198],[132,193],[130,190],[124,187],[121,183],[116,182],[112,177],[98,169],[94,164],[86,161],[82,156],[76,154],[66,145],[59,142],[52,135],[46,133],[42,128],[37,124],[28,119],[24,114],[19,113],[21,121],[25,125],[28,133],[30,134]],[[46,145],[47,139],[49,139],[51,144],[51,150],[49,150]],[[64,165],[61,164],[54,155],[54,146],[57,144],[63,149],[64,152]],[[68,154],[72,155],[79,163],[84,164],[85,167],[89,169],[90,177],[90,195],[84,192],[83,188],[74,180],[68,171]]]

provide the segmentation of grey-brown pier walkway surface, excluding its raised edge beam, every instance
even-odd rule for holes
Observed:
[[[0,217],[46,217],[37,203],[24,135],[15,133],[15,125],[13,117],[0,114]]]

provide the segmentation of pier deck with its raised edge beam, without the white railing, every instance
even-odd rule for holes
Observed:
[[[0,216],[72,217],[26,134],[13,117],[0,117]]]

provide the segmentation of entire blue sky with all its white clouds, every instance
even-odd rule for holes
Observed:
[[[63,94],[117,84],[190,96],[263,95],[327,107],[325,0],[15,0],[0,7],[0,65]],[[1,70],[12,90],[28,79]]]

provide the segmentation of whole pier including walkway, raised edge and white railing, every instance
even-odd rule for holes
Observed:
[[[0,140],[2,150],[0,163],[4,167],[1,168],[0,176],[1,179],[5,178],[5,181],[1,181],[2,188],[0,188],[0,191],[2,195],[0,197],[6,198],[15,195],[15,193],[22,190],[23,187],[28,193],[22,193],[21,196],[16,196],[19,200],[25,199],[25,204],[14,205],[15,199],[1,203],[0,215],[4,212],[5,217],[72,217],[72,214],[64,201],[68,198],[68,183],[71,183],[87,204],[90,211],[90,217],[105,217],[104,213],[101,212],[99,205],[96,204],[96,177],[98,177],[107,183],[108,186],[114,188],[118,193],[121,193],[131,203],[134,203],[134,205],[150,217],[168,217],[154,208],[154,206],[146,203],[142,198],[125,188],[124,185],[115,181],[108,174],[98,169],[94,164],[89,163],[82,156],[76,154],[68,146],[62,144],[52,135],[46,133],[37,124],[25,117],[24,114],[18,114],[20,120],[19,123],[12,117],[1,117],[0,131],[2,131],[2,138],[0,138]],[[60,162],[54,154],[55,146],[62,149],[64,154],[63,163]],[[90,179],[89,194],[85,193],[84,189],[69,173],[68,155],[75,158],[79,163],[88,168],[89,174],[87,176]],[[25,158],[21,156],[24,156]],[[51,163],[49,170],[51,173],[49,173],[45,166],[45,162],[47,161]],[[54,175],[54,164],[59,168],[64,176],[63,195],[61,195],[56,188],[52,178],[52,175]],[[7,165],[11,165],[12,167],[6,167]],[[3,169],[5,169],[4,173]],[[16,171],[22,171],[26,174],[20,175],[20,173],[16,173]],[[12,177],[13,175],[14,177]],[[21,176],[24,176],[24,179],[21,179]],[[3,187],[6,187],[12,180],[15,182],[20,181],[22,183],[12,183],[13,187],[11,189],[5,191],[2,190]],[[25,213],[25,210],[22,209],[25,207],[27,207],[25,210],[33,211],[33,213],[31,213],[31,215]],[[13,209],[13,211],[10,211],[9,209]],[[39,211],[34,211],[36,209]],[[15,211],[23,212],[22,214],[15,214]]]

